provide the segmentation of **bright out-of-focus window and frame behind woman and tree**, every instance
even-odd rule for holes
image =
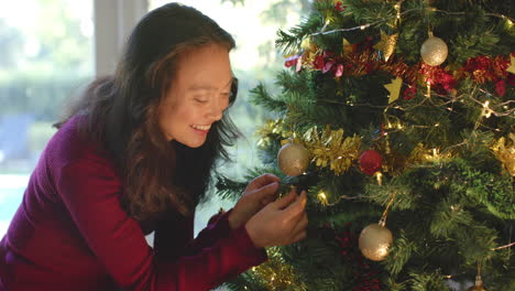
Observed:
[[[19,207],[40,153],[55,132],[69,98],[96,76],[112,72],[127,35],[163,0],[0,0],[0,238]],[[245,138],[232,149],[234,163],[221,171],[242,177],[258,165],[255,128],[266,114],[249,103],[249,89],[283,67],[274,40],[278,29],[299,22],[310,0],[185,0],[230,32],[231,53],[240,79],[231,117]],[[196,231],[220,207],[213,198],[199,206]],[[152,244],[152,237],[149,237]]]

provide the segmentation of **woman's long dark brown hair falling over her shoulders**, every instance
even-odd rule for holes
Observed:
[[[157,106],[173,85],[177,60],[185,51],[213,43],[234,47],[232,36],[199,11],[178,3],[151,11],[133,30],[116,73],[92,82],[57,123],[87,116],[86,132],[119,166],[122,205],[138,220],[158,218],[169,208],[189,216],[206,195],[218,158],[229,159],[224,147],[232,146],[239,131],[227,114],[196,149],[167,141],[157,122]],[[231,105],[237,88],[234,78]]]

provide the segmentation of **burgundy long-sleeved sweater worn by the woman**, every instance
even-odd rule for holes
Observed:
[[[162,222],[151,248],[120,206],[112,161],[78,137],[79,120],[46,146],[0,242],[0,291],[209,290],[266,260],[228,213],[195,239],[193,219]]]

